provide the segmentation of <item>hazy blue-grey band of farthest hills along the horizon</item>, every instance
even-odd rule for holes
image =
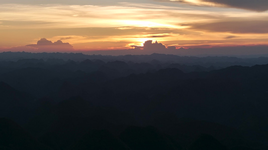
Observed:
[[[235,57],[235,56],[205,56],[205,57],[197,57],[197,56],[179,56],[173,54],[144,54],[144,55],[88,55],[83,53],[60,53],[60,52],[41,52],[41,53],[31,53],[31,52],[1,52],[0,53],[0,61],[17,61],[19,59],[42,59],[44,61],[49,60],[50,62],[53,59],[61,59],[66,60],[74,60],[74,61],[83,61],[85,59],[97,60],[100,59],[104,62],[108,61],[125,61],[125,62],[157,62],[155,60],[160,61],[161,63],[180,63],[186,65],[201,65],[209,67],[213,66],[221,66],[227,67],[230,65],[246,65],[251,66],[255,64],[266,64],[268,63],[268,57]],[[52,60],[51,60],[52,59]],[[54,60],[55,61],[55,60]],[[52,62],[51,62],[52,63]]]

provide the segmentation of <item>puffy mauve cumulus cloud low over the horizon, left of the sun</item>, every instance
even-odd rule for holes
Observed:
[[[68,42],[62,42],[57,40],[52,42],[46,38],[41,38],[37,41],[37,44],[25,45],[26,47],[35,47],[38,48],[38,51],[70,51],[74,50],[73,46]]]

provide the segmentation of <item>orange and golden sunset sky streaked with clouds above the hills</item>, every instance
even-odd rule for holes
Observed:
[[[266,10],[267,0],[1,0],[0,51],[263,47]]]

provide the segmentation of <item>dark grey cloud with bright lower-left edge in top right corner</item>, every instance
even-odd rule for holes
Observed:
[[[164,0],[164,1],[177,1],[177,2],[184,2],[193,5],[203,5],[203,6],[233,7],[253,11],[268,10],[267,0]]]

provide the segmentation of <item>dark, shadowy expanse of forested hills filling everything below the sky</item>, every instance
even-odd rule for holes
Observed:
[[[268,149],[265,57],[46,54],[0,60],[0,149]]]

